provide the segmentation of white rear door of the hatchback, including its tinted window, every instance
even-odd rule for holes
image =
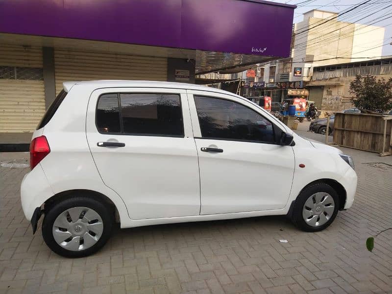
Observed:
[[[131,219],[199,215],[185,90],[98,89],[89,100],[86,133],[103,182],[122,197]]]

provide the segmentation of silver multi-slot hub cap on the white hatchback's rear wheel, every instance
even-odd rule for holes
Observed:
[[[95,210],[73,207],[56,218],[52,232],[58,245],[67,250],[79,251],[98,242],[103,233],[103,222]]]

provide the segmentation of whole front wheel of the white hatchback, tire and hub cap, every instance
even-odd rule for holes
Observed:
[[[292,221],[303,231],[317,232],[334,221],[339,210],[339,196],[324,183],[306,187],[294,203]]]

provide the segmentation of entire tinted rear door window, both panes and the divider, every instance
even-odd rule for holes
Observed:
[[[98,98],[100,133],[184,137],[178,94],[114,93]]]

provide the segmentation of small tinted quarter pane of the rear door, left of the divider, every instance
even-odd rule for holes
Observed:
[[[117,94],[104,94],[99,97],[96,120],[100,133],[120,133],[119,99]]]

